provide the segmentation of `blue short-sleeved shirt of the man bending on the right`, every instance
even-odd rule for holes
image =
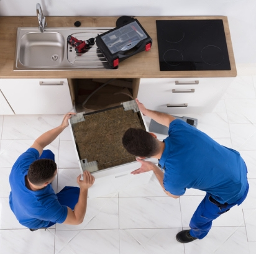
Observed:
[[[185,121],[170,123],[169,137],[159,164],[165,168],[163,186],[175,196],[186,188],[200,189],[221,204],[243,196],[247,168],[240,153],[216,141]]]

